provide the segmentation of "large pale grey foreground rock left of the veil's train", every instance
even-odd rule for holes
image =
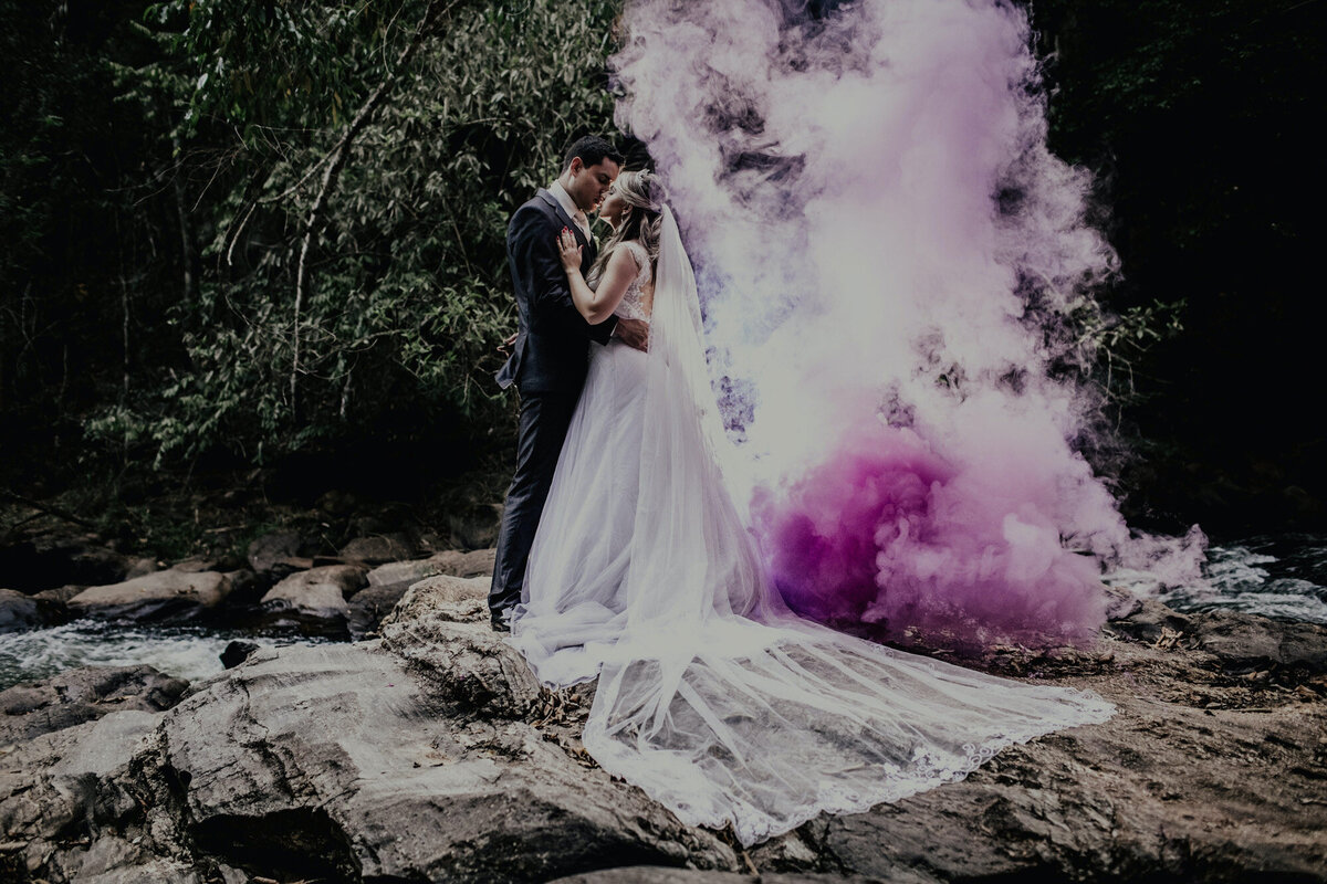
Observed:
[[[537,685],[507,645],[446,628],[438,660],[410,645],[425,684],[450,671],[482,687],[442,696],[376,643],[317,645],[259,652],[171,710],[163,761],[198,843],[255,873],[334,880],[545,880],[608,856],[733,867],[719,839],[518,717]]]

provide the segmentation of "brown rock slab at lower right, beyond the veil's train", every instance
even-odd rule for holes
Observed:
[[[1185,619],[1201,636],[1208,615]],[[1200,641],[1107,637],[1034,661],[1028,675],[1072,673],[1062,683],[1097,691],[1116,716],[1006,749],[963,782],[812,820],[751,855],[762,869],[890,881],[1327,881],[1324,685],[1294,673],[1278,684],[1279,664],[1231,676]],[[816,859],[790,864],[790,854]]]

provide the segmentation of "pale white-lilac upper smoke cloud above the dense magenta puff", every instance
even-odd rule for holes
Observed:
[[[1097,402],[1052,367],[1091,359],[1066,317],[1117,262],[1087,221],[1089,175],[1046,147],[1024,12],[794,5],[636,0],[612,62],[760,481],[878,415],[1104,561],[1172,553],[1129,539],[1071,445]],[[1189,553],[1169,563],[1184,579],[1201,543]]]

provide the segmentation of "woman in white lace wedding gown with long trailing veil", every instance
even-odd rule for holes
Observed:
[[[1028,685],[794,615],[766,580],[705,363],[695,278],[650,172],[600,211],[589,322],[649,319],[648,353],[591,345],[510,641],[540,681],[598,679],[583,742],[689,824],[743,844],[821,811],[961,779],[1001,747],[1099,722],[1091,692]]]

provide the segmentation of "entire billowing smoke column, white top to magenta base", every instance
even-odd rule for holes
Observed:
[[[1022,8],[636,0],[618,125],[665,176],[775,584],[905,640],[1058,644],[1103,569],[1198,578],[1076,452],[1070,317],[1117,272],[1046,147]],[[744,492],[743,492],[744,496]]]

